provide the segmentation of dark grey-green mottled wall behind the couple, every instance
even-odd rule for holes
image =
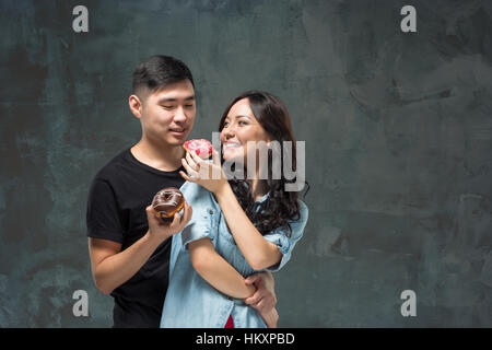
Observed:
[[[77,4],[89,33],[72,31]],[[405,4],[418,33],[400,31]],[[277,273],[281,326],[491,327],[491,16],[458,0],[2,0],[0,326],[110,326],[87,187],[139,140],[134,66],[167,54],[196,77],[192,137],[255,88],[306,140],[311,218]],[[79,289],[90,317],[72,315]]]

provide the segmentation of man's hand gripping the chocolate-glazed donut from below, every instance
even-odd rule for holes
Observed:
[[[171,223],[163,222],[157,218],[152,206],[147,207],[145,211],[149,221],[149,236],[160,243],[185,229],[192,215],[191,206],[186,200],[183,218],[176,212]]]

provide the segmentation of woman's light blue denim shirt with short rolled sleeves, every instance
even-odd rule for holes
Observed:
[[[244,258],[213,195],[195,183],[186,182],[180,188],[192,207],[187,226],[173,236],[169,260],[169,285],[161,318],[162,328],[223,328],[231,315],[236,328],[266,328],[259,313],[243,300],[230,298],[210,285],[191,265],[188,243],[209,237],[215,250],[243,277],[259,272]],[[268,194],[255,205],[266,200]],[[300,200],[301,218],[290,221],[292,234],[278,228],[263,237],[278,245],[282,259],[269,271],[280,270],[289,261],[292,249],[302,237],[307,222],[307,207]]]

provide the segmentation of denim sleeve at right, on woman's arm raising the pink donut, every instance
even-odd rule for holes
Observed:
[[[290,260],[295,244],[304,234],[304,228],[307,223],[308,210],[303,201],[300,200],[298,202],[301,215],[296,221],[289,221],[292,229],[290,236],[288,236],[289,229],[286,228],[278,228],[271,233],[268,233],[263,236],[267,241],[276,244],[280,253],[282,253],[281,260],[278,264],[267,268],[268,271],[278,271]]]

